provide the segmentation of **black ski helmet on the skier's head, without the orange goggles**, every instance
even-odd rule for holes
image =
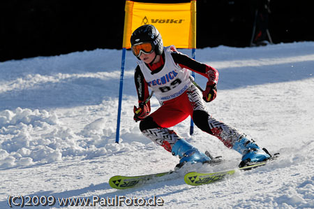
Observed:
[[[130,38],[131,45],[144,42],[153,43],[156,55],[163,54],[163,39],[154,25],[144,24],[141,27],[138,27]]]

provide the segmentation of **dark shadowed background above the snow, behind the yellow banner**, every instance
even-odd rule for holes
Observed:
[[[197,0],[197,48],[249,46],[255,3],[257,0]],[[121,49],[124,6],[124,0],[2,0],[0,62],[96,48]],[[274,43],[314,41],[311,1],[271,0],[270,10],[269,32]]]

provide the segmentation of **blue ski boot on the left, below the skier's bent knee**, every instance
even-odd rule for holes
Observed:
[[[181,168],[186,162],[195,164],[197,162],[204,163],[211,161],[206,154],[197,150],[197,148],[190,145],[183,138],[177,140],[177,143],[173,145],[171,152],[174,156],[179,155],[180,162],[177,164],[176,168]]]

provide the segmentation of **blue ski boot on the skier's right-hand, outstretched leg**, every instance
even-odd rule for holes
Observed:
[[[244,136],[234,143],[232,149],[242,154],[242,161],[239,164],[240,168],[246,166],[249,162],[266,161],[271,157],[266,149],[261,149],[254,141],[248,140]]]

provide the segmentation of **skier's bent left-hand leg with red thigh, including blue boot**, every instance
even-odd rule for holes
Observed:
[[[144,136],[163,146],[168,152],[179,155],[180,163],[184,161],[192,163],[209,161],[210,158],[206,154],[190,145],[176,132],[167,129],[185,120],[192,110],[193,108],[191,108],[186,94],[179,96],[178,99],[165,103],[156,112],[143,120],[140,123],[140,130]]]

